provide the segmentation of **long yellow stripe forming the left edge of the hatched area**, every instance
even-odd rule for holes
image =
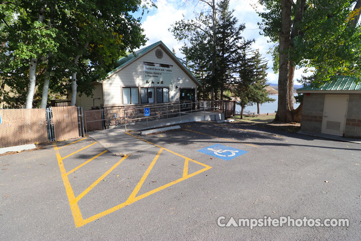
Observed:
[[[53,144],[53,146],[54,146],[54,149],[57,147],[56,144]],[[82,214],[80,212],[78,204],[74,201],[75,200],[74,191],[73,191],[73,189],[72,189],[72,187],[70,185],[68,176],[66,175],[63,159],[61,158],[58,151],[56,151],[56,156],[57,156],[57,160],[58,160],[58,164],[59,164],[60,173],[61,173],[61,176],[63,178],[65,191],[66,191],[67,196],[68,196],[70,209],[71,209],[71,212],[73,214],[75,226],[80,227],[80,226],[84,225]]]

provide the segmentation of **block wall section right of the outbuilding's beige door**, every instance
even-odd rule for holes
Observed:
[[[361,94],[349,94],[345,137],[361,139]]]

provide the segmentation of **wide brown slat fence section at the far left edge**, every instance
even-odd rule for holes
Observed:
[[[0,114],[0,148],[48,140],[45,109],[3,109]]]

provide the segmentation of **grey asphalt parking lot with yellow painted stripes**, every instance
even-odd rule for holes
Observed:
[[[87,137],[0,156],[0,239],[361,239],[361,145],[241,123],[129,135],[149,148],[120,157]],[[349,225],[221,227],[220,216]]]

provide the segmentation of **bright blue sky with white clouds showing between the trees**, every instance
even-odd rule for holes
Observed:
[[[183,19],[194,18],[194,12],[200,12],[204,7],[200,3],[195,5],[197,1],[189,1],[187,4],[183,4],[181,1],[172,0],[158,0],[156,2],[157,8],[149,9],[149,13],[144,14],[142,17],[142,28],[146,37],[149,39],[146,45],[150,45],[161,40],[169,49],[174,48],[178,57],[183,57],[179,52],[179,48],[183,45],[182,42],[178,42],[174,36],[168,31],[171,24],[175,21]],[[274,43],[268,43],[268,38],[260,35],[260,30],[257,25],[261,22],[261,18],[256,13],[254,8],[260,8],[260,6],[251,6],[257,3],[252,0],[231,0],[230,8],[234,9],[234,16],[239,20],[239,23],[244,23],[246,29],[243,32],[243,36],[246,39],[255,39],[255,43],[252,45],[253,49],[259,49],[262,56],[268,60],[268,82],[277,83],[278,74],[272,71],[272,58],[267,51],[270,47],[274,46]],[[301,75],[306,75],[302,72],[303,69],[297,69],[295,71],[295,80],[300,78]],[[295,84],[298,84],[295,81]]]

